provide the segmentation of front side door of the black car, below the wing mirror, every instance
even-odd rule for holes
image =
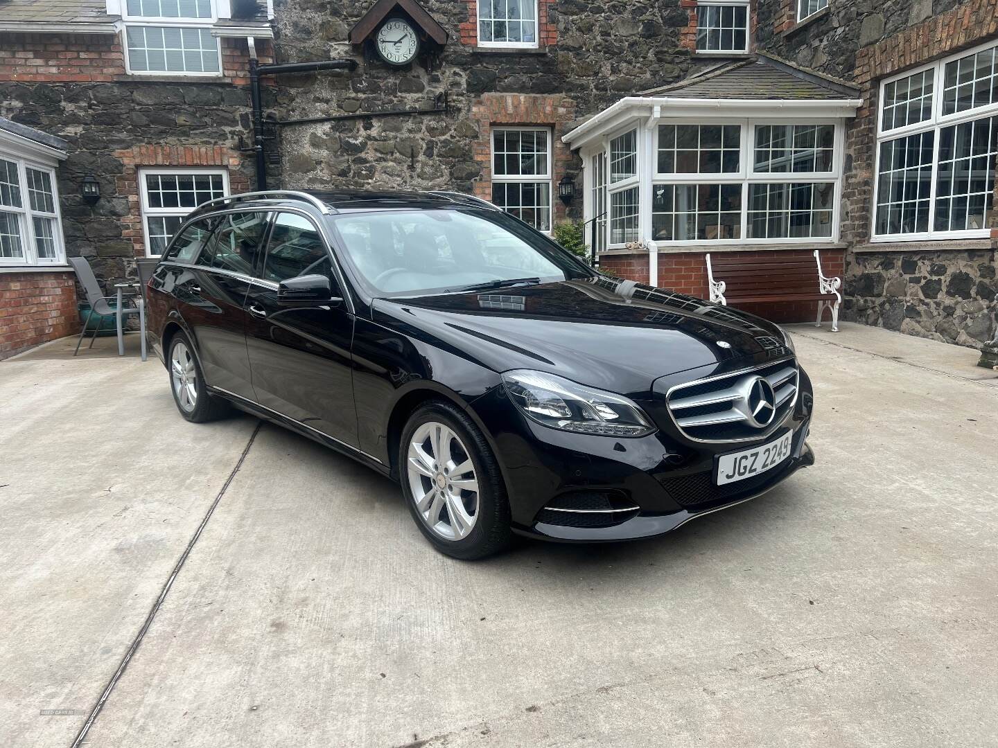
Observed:
[[[350,344],[353,315],[345,301],[277,303],[282,280],[322,274],[341,296],[332,254],[311,218],[277,212],[259,272],[246,299],[247,345],[256,401],[298,423],[357,446]]]

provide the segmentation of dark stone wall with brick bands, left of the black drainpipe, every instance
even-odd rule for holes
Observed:
[[[136,277],[145,255],[136,176],[142,167],[219,167],[250,187],[249,51],[223,39],[218,79],[148,79],[125,73],[117,36],[0,34],[0,116],[69,143],[58,170],[67,253],[87,257],[107,288]],[[257,44],[262,59],[265,44]],[[268,103],[271,97],[268,95]],[[101,199],[80,183],[92,175]]]

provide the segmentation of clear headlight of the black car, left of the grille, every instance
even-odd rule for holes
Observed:
[[[529,369],[507,371],[502,380],[516,407],[552,429],[615,437],[643,437],[656,431],[641,408],[612,392]]]

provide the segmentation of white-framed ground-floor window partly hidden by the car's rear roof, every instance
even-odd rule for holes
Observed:
[[[205,169],[144,169],[139,173],[146,255],[163,254],[184,218],[206,200],[229,194],[229,173]]]

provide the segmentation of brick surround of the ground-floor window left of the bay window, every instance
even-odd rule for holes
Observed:
[[[471,107],[471,117],[478,123],[478,141],[472,146],[474,160],[481,167],[481,179],[475,183],[475,194],[492,199],[492,127],[524,125],[550,127],[553,134],[552,191],[557,192],[558,181],[566,174],[575,178],[581,165],[568,146],[562,143],[566,126],[575,119],[575,102],[559,94],[486,94]],[[553,197],[554,220],[567,217],[565,204]],[[577,205],[581,203],[577,199]]]

